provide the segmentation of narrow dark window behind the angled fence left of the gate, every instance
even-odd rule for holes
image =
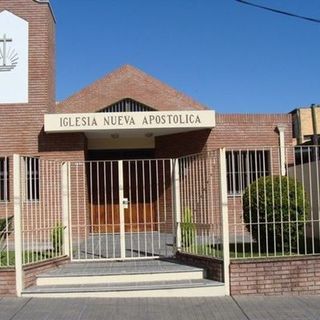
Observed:
[[[29,201],[39,200],[39,159],[25,158],[26,164],[26,197]]]

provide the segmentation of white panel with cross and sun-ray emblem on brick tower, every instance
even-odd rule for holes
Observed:
[[[0,103],[28,103],[29,24],[0,12]]]

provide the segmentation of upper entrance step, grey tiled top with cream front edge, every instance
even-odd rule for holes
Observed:
[[[201,280],[201,268],[172,261],[70,263],[37,277],[37,286]]]

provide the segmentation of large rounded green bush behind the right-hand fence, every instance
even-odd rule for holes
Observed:
[[[267,245],[273,251],[274,239],[277,251],[296,251],[304,239],[309,199],[302,184],[292,178],[262,177],[245,189],[243,213],[247,230],[260,243],[262,252],[267,251]]]

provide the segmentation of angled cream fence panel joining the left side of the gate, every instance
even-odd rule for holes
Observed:
[[[22,264],[65,255],[62,163],[20,157]]]

